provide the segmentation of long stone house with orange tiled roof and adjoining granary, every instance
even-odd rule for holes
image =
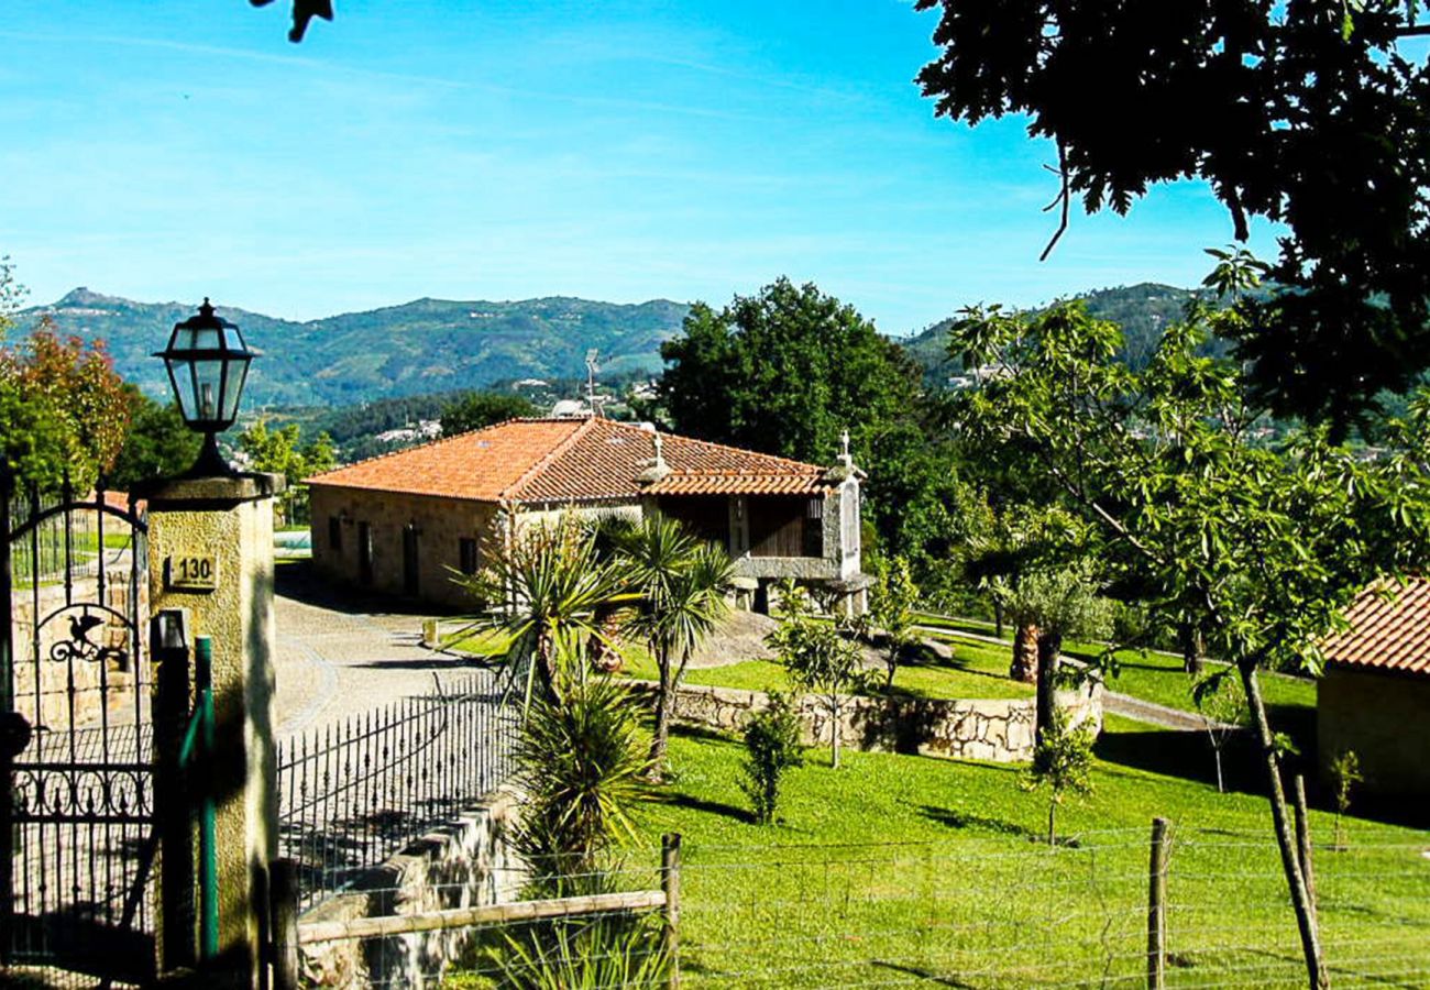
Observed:
[[[738,604],[764,611],[794,578],[862,612],[861,478],[848,441],[825,468],[602,418],[512,419],[309,478],[313,567],[460,608],[453,571],[493,541],[563,511],[659,511],[729,551]]]

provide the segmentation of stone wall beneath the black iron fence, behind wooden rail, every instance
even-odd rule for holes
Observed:
[[[370,870],[352,891],[303,914],[299,926],[516,900],[526,874],[506,837],[518,808],[513,791],[496,791],[453,825]],[[306,986],[353,990],[440,986],[448,966],[459,961],[470,943],[472,928],[310,943],[302,947],[303,980]]]

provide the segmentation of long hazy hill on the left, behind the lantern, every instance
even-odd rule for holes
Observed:
[[[76,289],[43,313],[64,333],[103,338],[119,372],[152,395],[167,395],[162,351],[196,303],[142,303]],[[522,302],[418,299],[365,313],[297,323],[219,308],[249,345],[253,363],[245,405],[347,405],[418,393],[482,388],[502,379],[585,375],[588,349],[603,373],[656,372],[661,342],[685,319],[685,303],[639,305],[549,298]]]

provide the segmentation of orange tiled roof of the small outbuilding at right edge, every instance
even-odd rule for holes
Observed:
[[[1377,582],[1346,618],[1350,628],[1323,647],[1327,662],[1430,674],[1430,578]]]

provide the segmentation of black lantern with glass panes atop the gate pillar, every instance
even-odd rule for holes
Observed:
[[[203,452],[189,469],[192,476],[233,474],[219,454],[219,433],[239,415],[243,381],[256,355],[243,343],[237,326],[213,315],[207,298],[197,316],[174,323],[169,348],[154,353],[164,359],[184,423],[206,438]]]

